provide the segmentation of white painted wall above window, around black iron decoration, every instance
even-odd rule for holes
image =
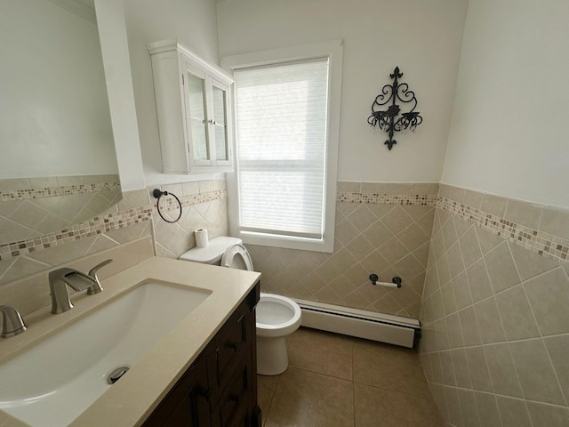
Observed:
[[[453,109],[466,0],[223,0],[220,56],[344,40],[340,181],[439,181]],[[398,65],[424,117],[415,134],[367,124]]]

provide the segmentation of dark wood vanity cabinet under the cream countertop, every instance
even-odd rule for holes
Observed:
[[[255,305],[247,294],[144,427],[258,427]]]

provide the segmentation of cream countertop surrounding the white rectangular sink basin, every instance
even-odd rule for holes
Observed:
[[[46,307],[26,317],[28,331],[0,342],[0,364],[17,357],[43,338],[57,333],[76,319],[97,310],[148,280],[172,282],[212,291],[196,310],[149,350],[71,426],[138,426],[152,413],[180,376],[194,362],[244,296],[259,281],[260,273],[166,258],[150,258],[103,280],[105,289],[96,295],[73,294],[73,310],[52,315]],[[45,286],[48,286],[46,283]],[[159,313],[156,313],[159,315]],[[160,367],[156,369],[156,367]],[[23,427],[0,411],[0,427]]]

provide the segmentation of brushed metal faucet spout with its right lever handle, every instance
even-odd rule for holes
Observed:
[[[113,260],[103,261],[95,265],[88,274],[67,267],[51,271],[49,281],[52,293],[52,314],[63,313],[73,308],[69,299],[68,286],[77,292],[87,289],[87,294],[99,294],[103,287],[100,286],[97,270],[109,262],[113,262]]]

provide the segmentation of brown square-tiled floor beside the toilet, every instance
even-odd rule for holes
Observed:
[[[284,374],[259,375],[265,427],[442,427],[415,350],[300,328]]]

